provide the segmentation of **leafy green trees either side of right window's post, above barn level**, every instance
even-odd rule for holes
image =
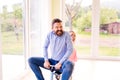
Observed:
[[[83,10],[84,9],[84,10]],[[74,21],[74,25],[79,31],[84,31],[85,28],[91,28],[92,12],[90,8],[83,8],[83,13],[79,13]],[[100,14],[100,25],[118,21],[118,12],[115,9],[102,8]]]

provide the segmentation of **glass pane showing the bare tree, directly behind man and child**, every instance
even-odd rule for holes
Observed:
[[[78,56],[90,56],[92,0],[66,0],[65,28],[76,32]]]

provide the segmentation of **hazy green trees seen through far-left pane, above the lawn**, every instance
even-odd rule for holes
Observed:
[[[1,31],[14,31],[15,26],[17,28],[22,27],[22,7],[21,4],[13,5],[13,12],[7,11],[7,6],[3,7],[3,13],[0,14],[1,19]]]

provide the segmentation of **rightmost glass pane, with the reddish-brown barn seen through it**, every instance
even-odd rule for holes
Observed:
[[[101,0],[100,56],[120,57],[119,5],[119,0]]]

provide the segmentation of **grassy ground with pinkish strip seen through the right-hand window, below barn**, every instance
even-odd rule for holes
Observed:
[[[75,48],[77,50],[78,55],[91,55],[90,50],[90,40],[91,40],[91,34],[86,32],[81,32],[77,34],[77,39],[84,39],[86,42],[77,42],[75,45]],[[113,40],[113,41],[112,41]],[[119,35],[110,35],[110,34],[100,34],[99,41],[102,41],[101,44],[99,44],[99,54],[100,56],[120,56],[120,48],[117,46],[114,46],[115,42],[119,42],[120,40]],[[106,41],[106,42],[105,42]],[[82,45],[81,45],[82,44]],[[83,45],[87,44],[87,45]],[[107,44],[107,45],[105,45]],[[119,43],[118,43],[119,45]]]

